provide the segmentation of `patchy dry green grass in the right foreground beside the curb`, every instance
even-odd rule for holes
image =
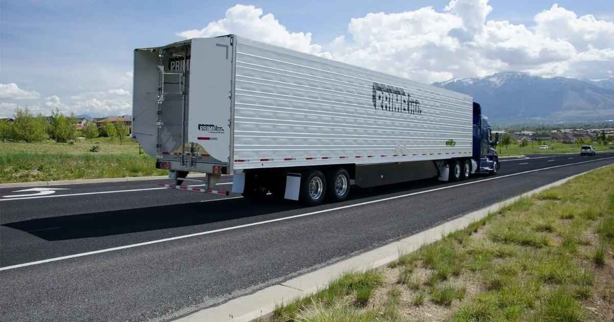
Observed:
[[[521,199],[261,321],[613,321],[614,166]]]

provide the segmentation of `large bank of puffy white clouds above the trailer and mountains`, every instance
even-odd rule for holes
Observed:
[[[349,36],[319,45],[311,33],[288,31],[273,13],[237,5],[203,29],[178,35],[234,33],[420,82],[500,71],[599,79],[614,71],[612,21],[578,17],[558,4],[536,13],[530,25],[488,20],[491,11],[488,0],[451,0],[441,10],[368,13],[349,21]]]

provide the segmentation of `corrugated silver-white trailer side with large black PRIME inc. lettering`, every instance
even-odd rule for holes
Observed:
[[[464,94],[243,37],[235,82],[235,170],[472,155]]]

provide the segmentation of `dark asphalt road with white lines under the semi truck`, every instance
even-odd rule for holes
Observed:
[[[612,163],[614,153],[506,159],[496,176],[356,189],[317,207],[151,180],[0,189],[0,316],[169,320]]]

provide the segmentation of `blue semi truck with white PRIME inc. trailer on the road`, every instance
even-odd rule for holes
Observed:
[[[317,205],[500,167],[480,104],[397,75],[233,34],[135,49],[133,75],[132,134],[167,188]],[[206,186],[184,185],[189,172]]]

